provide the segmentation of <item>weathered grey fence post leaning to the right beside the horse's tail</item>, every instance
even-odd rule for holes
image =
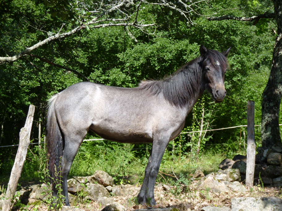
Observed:
[[[29,137],[30,137],[30,131],[33,122],[34,110],[35,110],[35,106],[30,105],[28,110],[28,116],[26,118],[24,127],[20,130],[19,148],[15,158],[14,166],[11,171],[11,176],[6,191],[6,196],[3,203],[3,208],[2,208],[3,211],[11,210],[12,207],[11,199],[15,196],[15,191],[18,185],[18,181],[20,179],[20,175],[23,170],[24,161],[28,150],[28,145],[30,143]]]

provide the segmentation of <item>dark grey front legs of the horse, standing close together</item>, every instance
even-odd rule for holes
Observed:
[[[144,181],[137,196],[140,204],[150,203],[151,205],[156,205],[154,186],[168,142],[169,138],[154,138],[151,154],[145,169]]]

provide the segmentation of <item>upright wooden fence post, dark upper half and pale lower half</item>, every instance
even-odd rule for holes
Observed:
[[[256,143],[254,141],[254,101],[248,100],[247,110],[247,170],[246,170],[246,187],[254,186],[254,164],[256,157]]]

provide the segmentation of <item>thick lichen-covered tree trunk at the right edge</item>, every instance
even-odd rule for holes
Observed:
[[[282,0],[273,0],[277,37],[273,50],[271,72],[262,93],[262,146],[282,145],[279,110],[282,96]]]

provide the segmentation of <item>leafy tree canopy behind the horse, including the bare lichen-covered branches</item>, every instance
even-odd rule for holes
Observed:
[[[87,80],[136,87],[141,80],[163,78],[198,57],[200,44],[219,51],[232,47],[227,97],[215,104],[205,94],[189,114],[184,131],[200,128],[203,107],[204,129],[244,125],[248,99],[256,103],[255,123],[260,124],[276,22],[265,17],[236,21],[231,16],[267,12],[265,16],[271,17],[272,2],[183,2],[1,0],[0,146],[18,143],[29,104],[37,107],[31,136],[37,142],[39,123],[43,140],[46,103],[53,94]],[[208,19],[227,12],[229,20]],[[237,143],[239,131],[207,133],[206,143]],[[256,132],[259,143],[260,129]],[[191,140],[183,135],[179,141],[188,150],[195,145]],[[15,151],[1,150],[2,156]]]

